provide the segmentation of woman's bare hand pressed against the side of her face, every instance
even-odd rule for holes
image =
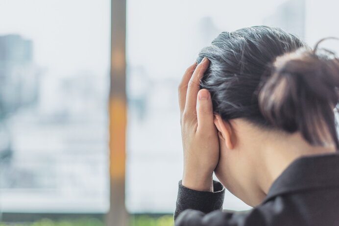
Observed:
[[[182,185],[198,191],[213,191],[212,176],[219,161],[219,139],[214,125],[211,95],[199,90],[209,66],[205,57],[190,66],[178,87],[181,136],[184,151]]]

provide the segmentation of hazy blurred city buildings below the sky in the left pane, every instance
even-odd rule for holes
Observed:
[[[1,207],[106,211],[108,74],[48,76],[33,47],[0,36]]]

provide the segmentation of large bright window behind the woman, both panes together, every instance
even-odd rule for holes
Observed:
[[[252,25],[282,27],[311,46],[339,37],[334,4],[127,1],[129,213],[174,211],[183,167],[177,86],[199,50]],[[110,10],[110,0],[0,1],[0,213],[108,211]],[[250,208],[230,193],[225,200],[225,209]]]

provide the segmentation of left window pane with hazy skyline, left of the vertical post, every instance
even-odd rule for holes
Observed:
[[[106,212],[110,0],[2,1],[0,21],[1,211]]]

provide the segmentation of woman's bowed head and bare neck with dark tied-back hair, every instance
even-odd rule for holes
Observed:
[[[267,152],[274,144],[288,148],[288,142],[296,141],[290,145],[310,148],[334,141],[339,148],[333,111],[338,102],[338,60],[316,54],[296,36],[267,26],[222,32],[200,51],[197,61],[203,57],[210,67],[200,88],[211,93],[219,134],[216,175],[246,203],[255,205],[265,197],[256,187],[260,176],[253,173],[265,170],[260,161],[264,165],[266,155],[276,153]],[[292,160],[286,156],[281,167]],[[253,194],[261,197],[253,200]]]

